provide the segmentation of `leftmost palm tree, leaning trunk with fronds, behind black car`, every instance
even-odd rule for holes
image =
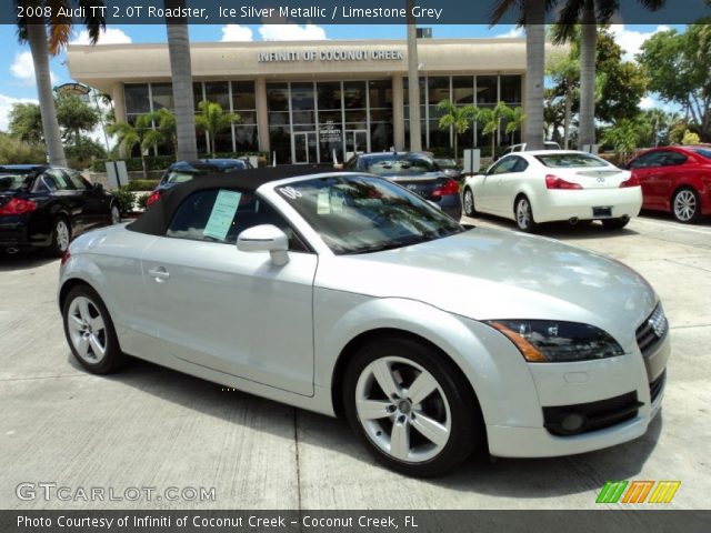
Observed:
[[[71,3],[83,7],[83,26],[89,31],[89,40],[92,44],[99,40],[100,31],[106,28],[106,20],[99,14],[101,10],[87,9],[91,6],[103,4],[97,0],[19,0],[22,6],[33,8],[31,13],[41,13],[43,7],[52,8],[52,17],[44,18],[33,16],[18,20],[18,38],[21,43],[30,46],[34,79],[37,82],[37,95],[42,113],[42,132],[47,147],[50,164],[67,167],[64,148],[62,145],[57,109],[54,108],[54,94],[52,93],[52,80],[49,70],[49,54],[56,56],[67,46],[71,37],[72,19],[59,17],[59,8],[70,8]],[[94,16],[96,14],[96,16]],[[48,37],[49,30],[49,37]]]

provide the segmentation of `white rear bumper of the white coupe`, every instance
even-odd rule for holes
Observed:
[[[595,212],[595,208],[602,210]],[[609,208],[609,214],[605,208]],[[642,192],[639,187],[548,191],[540,205],[533,205],[533,218],[537,222],[619,219],[637,217],[641,209]]]

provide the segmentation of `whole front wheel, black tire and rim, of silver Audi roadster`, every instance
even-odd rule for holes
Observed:
[[[392,362],[393,359],[397,361]],[[384,389],[371,371],[378,363],[384,363],[384,368],[390,370],[392,383],[401,380],[397,390],[405,398],[395,398],[395,394],[392,394],[391,399],[384,394]],[[423,372],[418,373],[413,364]],[[428,379],[433,378],[438,388],[423,395],[415,404],[418,398],[412,384],[414,379],[422,374]],[[362,391],[369,391],[367,399],[361,396]],[[407,398],[409,394],[412,394],[414,400]],[[373,395],[382,396],[373,402],[387,405],[384,409],[388,410],[388,414],[379,414],[370,420],[361,419],[357,399],[370,401]],[[362,401],[360,404],[363,405]],[[343,405],[351,428],[374,459],[407,475],[433,477],[445,474],[469,457],[483,438],[479,403],[464,378],[453,364],[443,361],[440,352],[411,339],[382,339],[360,349],[346,370]],[[435,442],[437,439],[428,439],[419,431],[418,428],[421,428],[424,421],[427,424],[435,421],[440,424],[439,428],[447,426],[445,432],[441,432],[440,429],[440,433],[437,434],[442,441],[440,444]],[[398,459],[389,451],[394,445],[395,424],[405,428],[409,435],[409,452],[404,456],[412,456],[411,461]],[[448,436],[442,440],[444,434]]]

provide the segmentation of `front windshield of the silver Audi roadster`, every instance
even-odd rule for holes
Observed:
[[[277,191],[336,254],[390,250],[464,231],[420,197],[378,178],[333,175]]]

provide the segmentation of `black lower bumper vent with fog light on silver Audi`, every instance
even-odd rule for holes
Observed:
[[[642,405],[637,400],[637,392],[628,392],[599,402],[543,408],[543,426],[558,436],[589,433],[633,419]],[[571,416],[582,420],[581,425],[574,430],[567,428],[564,423]]]

